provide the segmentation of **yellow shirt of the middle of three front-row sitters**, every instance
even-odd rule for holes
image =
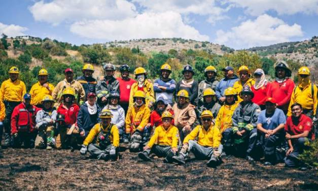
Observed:
[[[157,126],[154,135],[150,138],[147,146],[150,148],[154,144],[169,145],[171,148],[177,148],[179,141],[179,130],[173,125],[165,130],[162,125]]]

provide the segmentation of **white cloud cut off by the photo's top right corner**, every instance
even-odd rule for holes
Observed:
[[[295,13],[318,14],[318,0],[227,0],[246,12],[258,16],[266,11],[274,10],[279,15],[293,15]]]

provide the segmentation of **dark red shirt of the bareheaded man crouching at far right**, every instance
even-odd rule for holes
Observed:
[[[299,135],[304,133],[304,131],[309,131],[308,137],[314,139],[314,134],[311,132],[311,127],[312,121],[310,117],[306,116],[305,114],[301,114],[298,123],[293,121],[292,117],[287,118],[285,131],[291,135]]]

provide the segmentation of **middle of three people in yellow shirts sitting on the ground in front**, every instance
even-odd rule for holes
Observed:
[[[179,130],[171,124],[173,116],[170,112],[165,111],[161,119],[162,125],[157,126],[144,151],[139,152],[138,156],[144,161],[150,161],[149,154],[155,153],[165,157],[163,162],[172,163],[172,157],[178,152]]]

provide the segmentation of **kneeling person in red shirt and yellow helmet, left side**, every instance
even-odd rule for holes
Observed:
[[[72,87],[66,88],[63,93],[63,103],[57,109],[57,115],[64,116],[64,121],[59,125],[59,133],[56,138],[56,148],[67,148],[71,145],[77,148],[77,137],[84,136],[84,132],[79,132],[76,124],[80,107],[73,103],[75,101],[75,91]],[[81,143],[80,143],[81,144]]]

